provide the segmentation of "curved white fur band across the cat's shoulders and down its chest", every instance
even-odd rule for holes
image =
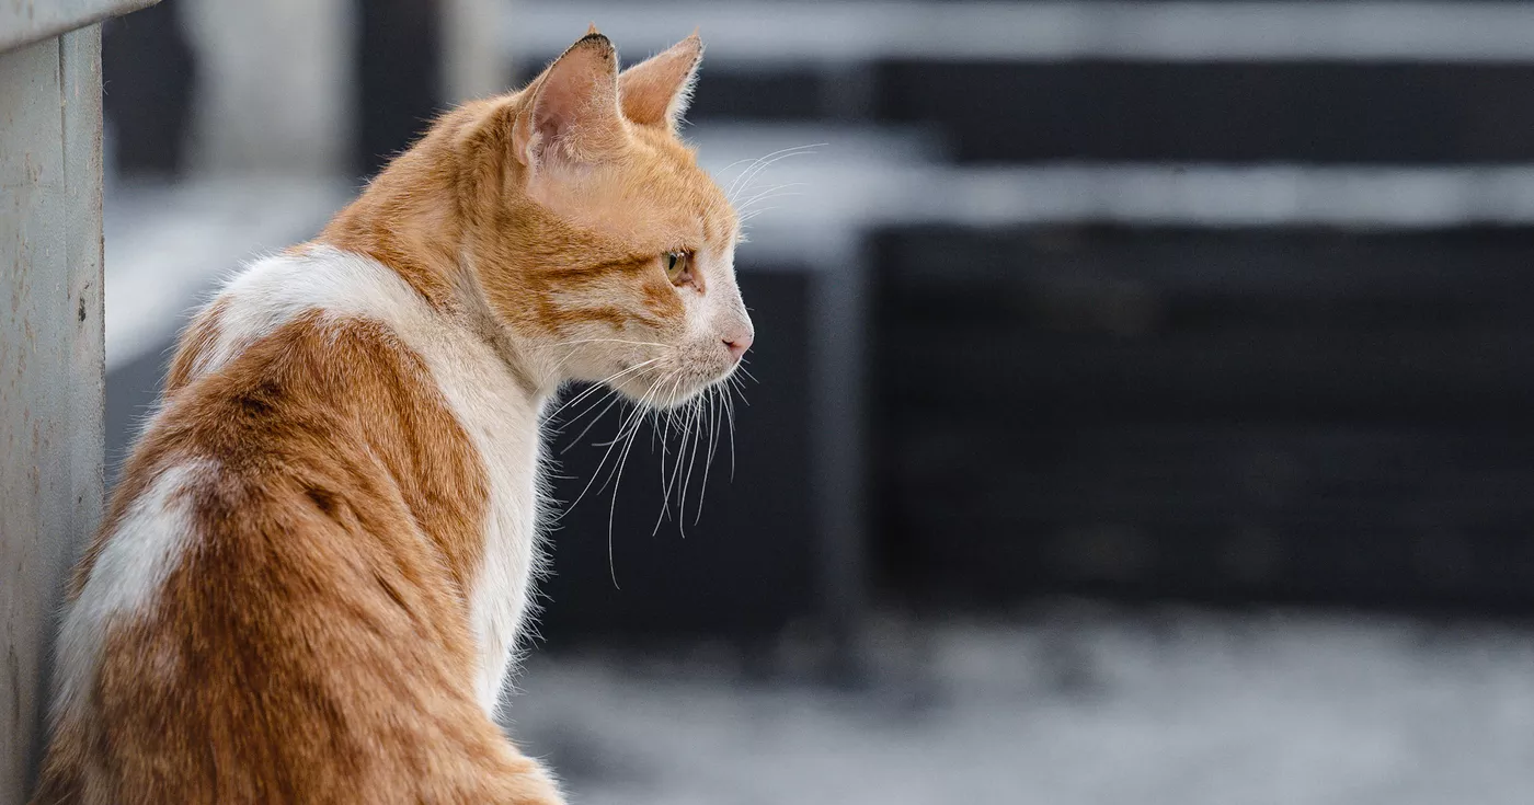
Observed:
[[[403,278],[370,258],[327,247],[267,258],[230,281],[218,299],[224,305],[218,342],[196,366],[198,374],[215,371],[311,310],[390,327],[431,371],[489,481],[483,558],[469,580],[469,626],[480,655],[476,688],[494,715],[542,561],[537,480],[543,400],[522,391],[488,343],[434,311]]]

